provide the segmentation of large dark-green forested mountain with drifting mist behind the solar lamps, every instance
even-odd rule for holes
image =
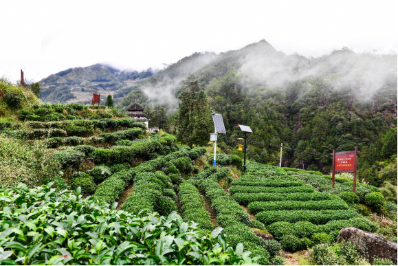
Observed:
[[[207,60],[192,66],[204,56]],[[305,58],[260,41],[217,56],[184,58],[148,78],[118,107],[139,98],[162,105],[173,117],[181,80],[188,74],[197,76],[214,111],[223,114],[228,139],[220,145],[227,152],[234,151],[239,123],[252,127],[250,140],[265,143],[249,146],[249,157],[256,162],[277,164],[280,143],[286,146],[285,166],[311,166],[325,173],[333,149],[357,146],[364,151],[362,163],[369,165],[396,160],[391,156],[397,154],[397,54],[356,54],[344,47]],[[367,169],[366,175],[372,175],[374,169]]]

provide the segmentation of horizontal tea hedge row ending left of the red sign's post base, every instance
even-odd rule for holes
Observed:
[[[232,186],[230,188],[231,195],[235,193],[297,193],[297,192],[314,192],[312,186],[291,186],[287,188],[273,188],[269,186]]]

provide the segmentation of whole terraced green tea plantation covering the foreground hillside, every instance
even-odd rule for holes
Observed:
[[[211,166],[206,147],[123,116],[34,104],[0,120],[0,265],[283,265],[346,227],[397,239],[378,188],[255,162],[243,173],[236,155]]]

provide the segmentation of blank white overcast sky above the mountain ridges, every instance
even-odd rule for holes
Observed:
[[[0,1],[0,78],[105,63],[141,71],[265,39],[285,54],[397,53],[396,0]]]

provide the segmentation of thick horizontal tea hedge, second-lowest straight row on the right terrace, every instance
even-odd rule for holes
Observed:
[[[361,217],[353,209],[349,210],[276,210],[269,212],[258,212],[256,219],[266,225],[277,221],[297,223],[298,221],[309,221],[317,225],[333,220],[347,220]]]

